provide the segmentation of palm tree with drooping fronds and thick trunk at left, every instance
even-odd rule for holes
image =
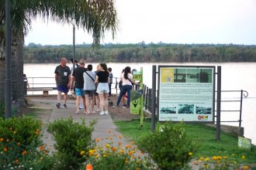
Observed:
[[[97,46],[107,30],[114,38],[118,26],[114,0],[10,0],[12,22],[12,99],[24,104],[22,84],[24,35],[31,20],[72,24],[92,34]],[[5,77],[5,0],[0,0],[0,79]],[[0,82],[0,100],[4,99],[4,81]]]

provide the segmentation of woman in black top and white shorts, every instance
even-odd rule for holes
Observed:
[[[109,71],[106,63],[99,64],[99,71],[96,73],[95,83],[98,83],[97,93],[100,100],[100,114],[109,114],[108,94],[109,94]]]

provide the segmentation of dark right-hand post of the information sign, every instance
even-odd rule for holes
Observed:
[[[216,140],[220,141],[221,66],[217,67]]]

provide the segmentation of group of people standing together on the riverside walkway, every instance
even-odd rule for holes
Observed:
[[[62,58],[61,64],[56,67],[55,81],[57,84],[57,108],[61,108],[61,93],[64,93],[63,107],[67,108],[67,93],[74,90],[76,96],[76,110],[80,111],[80,103],[84,106],[85,114],[109,114],[108,97],[111,95],[112,69],[107,67],[106,63],[99,63],[96,71],[92,71],[92,65],[88,64],[85,68],[85,59],[81,59],[79,63],[74,64],[74,69],[67,66],[67,59]],[[119,107],[122,98],[127,94],[127,104],[123,104],[124,108],[130,107],[130,95],[133,84],[133,75],[130,66],[126,66],[120,76],[120,93],[117,103],[113,107]],[[96,101],[95,101],[96,100]],[[90,101],[90,102],[89,102]],[[96,103],[96,109],[94,105]]]

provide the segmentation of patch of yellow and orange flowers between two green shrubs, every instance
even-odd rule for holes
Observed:
[[[129,145],[123,145],[115,134],[106,139],[95,139],[96,143],[103,143],[88,151],[88,164],[92,164],[94,170],[143,170],[155,169],[154,165],[144,152],[141,152],[134,145],[133,141]],[[112,139],[114,139],[115,144]]]

